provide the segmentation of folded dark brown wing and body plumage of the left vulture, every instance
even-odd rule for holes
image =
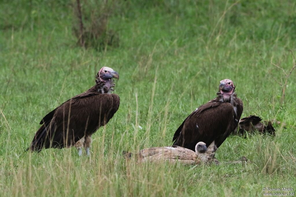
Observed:
[[[44,116],[30,149],[72,146],[85,134],[93,134],[107,124],[118,110],[119,103],[120,99],[115,94],[96,92],[84,92],[67,100]]]

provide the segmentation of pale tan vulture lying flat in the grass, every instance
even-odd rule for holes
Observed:
[[[140,150],[135,156],[138,163],[168,161],[169,163],[179,162],[181,164],[198,165],[212,161],[218,162],[206,153],[207,146],[204,142],[198,142],[194,149],[195,151],[192,151],[180,146],[153,147]],[[132,153],[127,153],[125,156],[131,158]]]

